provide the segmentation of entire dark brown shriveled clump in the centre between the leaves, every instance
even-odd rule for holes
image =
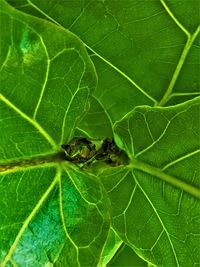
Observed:
[[[110,166],[128,164],[125,151],[119,149],[113,139],[106,138],[97,150],[95,144],[87,138],[73,138],[68,144],[62,145],[65,157],[74,163],[85,163],[90,166],[95,161],[104,161]]]

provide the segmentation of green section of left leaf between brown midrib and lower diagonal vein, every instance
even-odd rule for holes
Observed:
[[[55,173],[54,167],[1,173],[0,262],[3,261],[3,257],[6,256],[10,247],[13,246],[16,235],[22,229],[27,217],[30,216],[38,201],[48,190]],[[13,247],[13,252],[16,248]],[[26,253],[24,252],[24,254]]]

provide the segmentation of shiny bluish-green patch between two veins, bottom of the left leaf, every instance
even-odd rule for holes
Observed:
[[[45,266],[60,257],[65,234],[59,213],[58,187],[30,222],[13,255],[18,266]]]

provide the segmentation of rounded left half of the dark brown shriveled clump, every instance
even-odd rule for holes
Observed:
[[[94,157],[95,145],[86,138],[73,138],[68,144],[61,146],[65,150],[68,161],[84,163]]]

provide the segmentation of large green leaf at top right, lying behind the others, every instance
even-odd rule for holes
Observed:
[[[80,124],[91,136],[106,137],[99,125],[113,125],[135,106],[174,105],[199,95],[199,1],[28,0],[27,6],[88,48],[98,73],[94,96],[107,116],[107,126],[103,116],[91,126],[99,107],[91,109]]]

